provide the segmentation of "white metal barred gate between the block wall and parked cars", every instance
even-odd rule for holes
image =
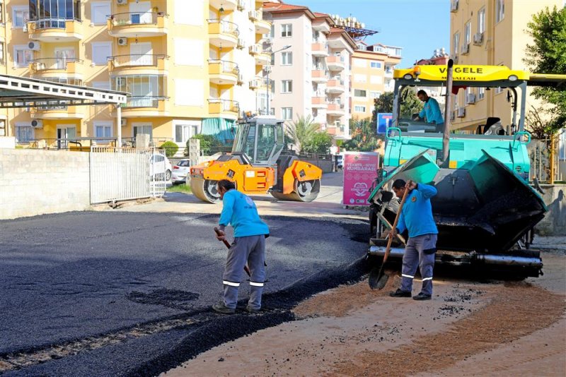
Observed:
[[[163,196],[166,174],[161,174],[161,155],[156,150],[92,147],[91,203]]]

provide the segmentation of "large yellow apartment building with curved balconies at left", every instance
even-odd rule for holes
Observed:
[[[1,1],[0,71],[128,92],[116,109],[10,109],[8,135],[19,143],[149,133],[156,145],[184,147],[195,133],[233,138],[242,112],[254,112],[270,32],[255,0]],[[33,124],[33,125],[32,125]],[[65,141],[63,141],[65,143]],[[83,145],[88,140],[83,140]]]

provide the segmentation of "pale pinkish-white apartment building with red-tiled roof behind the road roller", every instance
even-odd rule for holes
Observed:
[[[285,120],[311,115],[334,136],[350,138],[350,58],[356,44],[325,13],[265,3],[272,21],[270,112]]]

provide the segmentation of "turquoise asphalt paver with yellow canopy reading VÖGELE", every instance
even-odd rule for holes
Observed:
[[[385,254],[386,234],[399,207],[391,192],[393,181],[412,180],[437,188],[437,195],[431,198],[439,230],[437,263],[537,277],[543,263],[540,252],[531,249],[530,244],[533,229],[547,207],[536,184],[535,188],[529,184],[526,145],[531,135],[524,130],[527,85],[564,83],[566,76],[451,63],[397,69],[393,73],[393,121],[386,130],[383,171],[369,196],[369,255],[379,263]],[[400,114],[405,93],[414,86],[436,87],[442,95],[449,93],[444,124],[421,121],[415,114]],[[470,113],[475,106],[473,96],[479,93],[490,100],[487,93],[492,96],[502,92],[501,103],[507,99],[507,104],[493,107],[495,114],[488,117],[473,113],[463,131],[455,133],[451,121],[464,114],[454,111],[450,104],[458,101],[457,96],[451,96],[458,90],[466,92],[464,100]],[[463,106],[461,98],[456,105]],[[542,193],[540,186],[538,190]],[[406,237],[396,239],[397,247],[391,250],[388,261],[403,257]]]

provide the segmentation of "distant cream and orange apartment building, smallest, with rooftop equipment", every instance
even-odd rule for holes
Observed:
[[[374,100],[393,92],[393,69],[401,61],[401,47],[357,42],[352,54],[352,118],[371,118]]]

